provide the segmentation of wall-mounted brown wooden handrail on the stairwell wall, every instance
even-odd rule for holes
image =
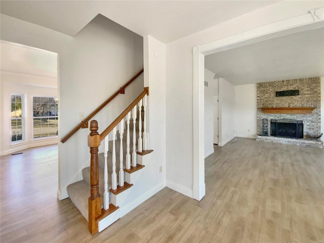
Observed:
[[[110,101],[116,98],[119,94],[125,94],[125,89],[139,76],[144,72],[144,69],[140,70],[135,74],[123,87],[117,90],[112,96],[110,96],[104,103],[102,103],[97,109],[95,109],[90,115],[88,115],[79,125],[77,125],[71,132],[69,132],[64,138],[61,139],[62,143],[65,143],[70,137],[72,137],[80,128],[87,124],[88,121],[94,117],[100,110],[102,110]]]

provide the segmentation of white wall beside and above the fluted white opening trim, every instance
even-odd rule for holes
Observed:
[[[192,191],[193,47],[280,20],[307,14],[320,1],[282,1],[167,45],[167,180]],[[221,91],[220,91],[221,92]]]

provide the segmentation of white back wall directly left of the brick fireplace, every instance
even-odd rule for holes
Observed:
[[[257,85],[235,86],[235,129],[238,137],[256,138]]]

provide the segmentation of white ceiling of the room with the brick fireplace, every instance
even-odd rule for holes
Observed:
[[[205,67],[234,85],[324,76],[324,28],[208,55]]]

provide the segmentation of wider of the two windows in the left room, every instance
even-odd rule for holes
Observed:
[[[33,138],[58,135],[57,98],[32,97]]]

